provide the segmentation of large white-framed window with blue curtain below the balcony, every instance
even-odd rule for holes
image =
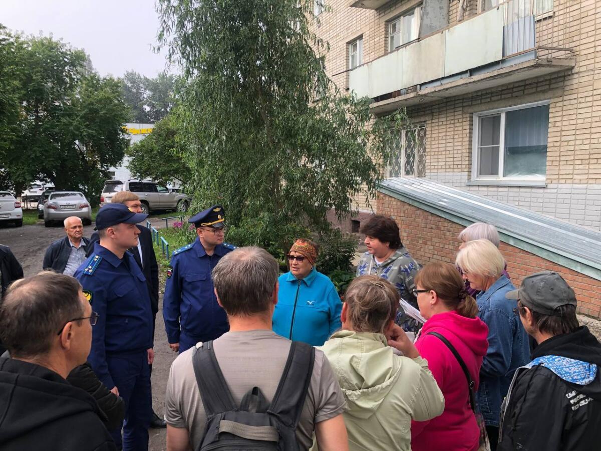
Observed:
[[[545,180],[549,102],[474,115],[473,179]]]

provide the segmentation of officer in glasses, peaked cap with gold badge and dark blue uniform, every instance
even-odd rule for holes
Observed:
[[[230,326],[217,303],[211,271],[219,259],[236,247],[224,243],[224,209],[221,205],[192,216],[198,238],[171,257],[167,268],[163,319],[169,346],[180,353],[197,342],[214,340]]]

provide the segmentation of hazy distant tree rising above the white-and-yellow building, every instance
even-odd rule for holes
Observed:
[[[148,78],[134,71],[123,76],[123,97],[132,109],[132,122],[154,123],[171,111],[174,105],[175,76],[160,73]]]

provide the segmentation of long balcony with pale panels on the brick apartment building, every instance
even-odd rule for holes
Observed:
[[[564,44],[570,25],[561,19],[563,11],[537,20],[530,4],[509,0],[419,38],[351,70],[349,88],[374,99],[372,111],[385,114],[572,69],[572,49]]]

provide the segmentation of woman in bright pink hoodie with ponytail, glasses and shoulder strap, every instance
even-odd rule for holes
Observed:
[[[477,451],[480,429],[469,404],[468,381],[450,349],[431,332],[447,339],[465,362],[478,390],[478,375],[486,355],[488,328],[478,318],[478,306],[455,266],[430,263],[415,278],[419,313],[426,318],[415,346],[428,361],[445,397],[441,416],[412,422],[413,451]]]

